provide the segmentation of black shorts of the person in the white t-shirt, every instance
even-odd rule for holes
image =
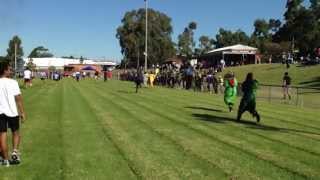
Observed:
[[[19,116],[8,117],[5,114],[0,114],[0,132],[7,132],[8,128],[10,128],[12,132],[19,130]]]

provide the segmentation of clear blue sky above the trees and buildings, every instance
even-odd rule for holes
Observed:
[[[257,18],[282,19],[286,0],[149,0],[149,7],[172,18],[173,39],[191,21],[196,38],[214,37],[220,27],[252,33]],[[57,57],[84,56],[120,60],[115,37],[125,12],[143,0],[0,0],[0,55],[17,34],[25,55],[43,45]]]

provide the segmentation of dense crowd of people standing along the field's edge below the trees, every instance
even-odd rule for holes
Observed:
[[[126,70],[120,73],[120,80],[139,80],[141,84],[148,86],[164,86],[170,88],[194,89],[197,91],[208,91],[211,93],[223,93],[223,78],[217,77],[217,69],[204,69],[193,67],[190,64],[176,67],[174,65],[163,65],[151,71]]]

